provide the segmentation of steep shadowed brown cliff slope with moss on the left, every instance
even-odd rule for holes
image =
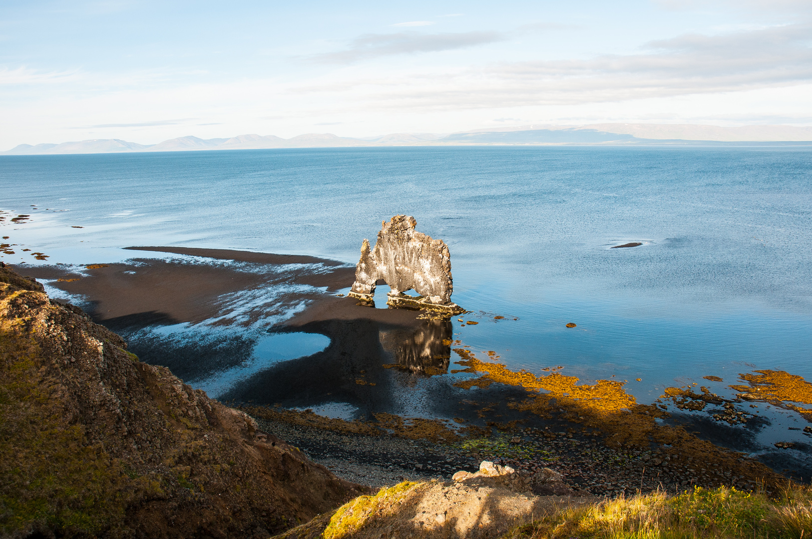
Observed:
[[[0,537],[268,537],[361,489],[0,267]]]

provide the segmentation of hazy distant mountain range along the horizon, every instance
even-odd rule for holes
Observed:
[[[240,135],[230,139],[181,136],[158,144],[136,144],[119,139],[93,139],[62,144],[19,144],[0,155],[48,153],[184,152],[211,149],[339,148],[352,146],[425,145],[752,145],[812,144],[812,127],[782,125],[719,127],[693,124],[599,123],[583,126],[530,125],[502,127],[439,135],[392,133],[348,138],[330,133],[309,133],[283,139],[279,136]]]

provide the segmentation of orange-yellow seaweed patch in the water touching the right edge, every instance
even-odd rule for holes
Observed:
[[[757,370],[758,374],[739,374],[749,386],[730,386],[740,391],[737,396],[747,400],[761,400],[800,412],[807,421],[812,421],[812,409],[790,403],[812,404],[812,384],[803,377],[786,371]]]

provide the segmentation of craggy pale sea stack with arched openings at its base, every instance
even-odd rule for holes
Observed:
[[[375,247],[369,248],[369,239],[361,244],[361,259],[349,295],[370,302],[375,284],[382,279],[391,288],[387,304],[393,307],[463,313],[464,309],[451,303],[451,256],[445,242],[415,231],[417,221],[410,216],[395,215],[381,224]],[[409,290],[420,297],[404,294]]]

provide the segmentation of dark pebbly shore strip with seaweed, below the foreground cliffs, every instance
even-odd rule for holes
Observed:
[[[561,474],[572,491],[598,497],[657,490],[679,494],[694,486],[759,488],[758,479],[745,477],[737,469],[689,455],[680,458],[669,446],[611,448],[602,439],[572,428],[569,433],[564,427],[495,433],[490,437],[492,443],[486,444],[490,449],[472,450],[470,440],[465,439],[443,443],[390,433],[370,435],[296,425],[256,414],[253,418],[261,429],[287,440],[336,476],[375,487],[400,481],[447,481],[456,472],[476,471],[482,460],[493,460],[520,473],[550,469]],[[519,452],[528,456],[510,456]]]

